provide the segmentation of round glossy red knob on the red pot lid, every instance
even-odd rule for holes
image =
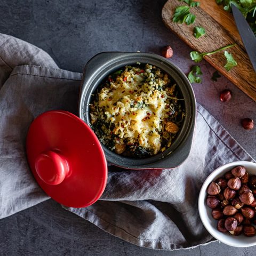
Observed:
[[[46,151],[35,159],[35,169],[41,180],[49,185],[58,185],[69,171],[65,157],[54,151]]]

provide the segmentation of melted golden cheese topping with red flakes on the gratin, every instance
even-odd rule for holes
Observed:
[[[103,87],[98,94],[98,109],[107,123],[114,124],[112,131],[119,137],[119,143],[126,141],[157,154],[161,149],[161,131],[164,118],[169,117],[166,108],[167,90],[163,87],[170,82],[167,74],[160,69],[151,72],[152,66],[146,65],[146,71],[139,68],[125,69]],[[155,67],[154,67],[155,68]],[[167,88],[169,91],[174,90]],[[91,122],[98,116],[91,113]]]

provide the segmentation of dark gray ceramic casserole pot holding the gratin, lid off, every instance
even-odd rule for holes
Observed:
[[[129,169],[165,169],[179,166],[188,157],[193,141],[196,118],[196,100],[191,84],[183,72],[169,60],[145,52],[103,52],[87,62],[79,99],[79,117],[90,125],[90,108],[92,94],[101,82],[111,73],[126,65],[136,62],[149,63],[164,70],[177,83],[185,105],[185,120],[179,134],[170,148],[155,156],[138,159],[124,157],[102,145],[108,162]]]

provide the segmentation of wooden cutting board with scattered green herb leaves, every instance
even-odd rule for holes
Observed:
[[[199,7],[190,8],[190,12],[196,15],[195,23],[187,26],[185,23],[172,22],[175,9],[187,4],[179,0],[168,0],[162,10],[165,25],[198,52],[211,52],[222,46],[236,43],[234,47],[227,50],[237,62],[237,66],[230,71],[223,68],[226,64],[223,51],[205,56],[204,59],[256,101],[256,73],[245,51],[232,14],[224,11],[223,6],[217,5],[215,0],[198,2],[200,2]],[[194,37],[193,29],[195,26],[204,27],[206,36]],[[200,62],[195,63],[195,65],[200,66]]]

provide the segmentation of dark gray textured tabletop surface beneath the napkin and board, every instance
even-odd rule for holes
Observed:
[[[85,63],[102,51],[160,54],[162,46],[171,45],[171,61],[187,74],[194,65],[189,59],[191,49],[163,25],[164,3],[165,0],[2,0],[0,33],[41,47],[60,68],[77,72],[82,72]],[[212,82],[215,69],[205,61],[199,65],[203,83],[193,84],[197,101],[256,158],[256,129],[245,131],[240,125],[243,117],[256,121],[256,103],[223,76]],[[223,89],[233,92],[228,103],[219,100]],[[149,250],[103,232],[52,200],[0,220],[0,227],[0,255],[236,256],[255,255],[256,249],[237,249],[215,242],[192,250]]]

